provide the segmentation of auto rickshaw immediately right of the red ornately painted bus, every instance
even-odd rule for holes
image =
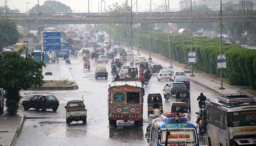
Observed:
[[[163,113],[163,102],[160,93],[148,94],[147,96],[147,116],[153,114],[155,106],[159,106],[159,110]]]

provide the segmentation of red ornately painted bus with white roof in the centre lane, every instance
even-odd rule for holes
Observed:
[[[117,120],[129,120],[141,126],[143,96],[144,88],[138,79],[125,77],[112,81],[108,89],[109,125],[116,125]]]

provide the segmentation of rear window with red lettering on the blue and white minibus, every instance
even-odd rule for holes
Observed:
[[[168,135],[167,143],[196,143],[196,132],[194,129],[168,131],[170,135]],[[165,140],[166,130],[162,130],[160,143],[165,143]]]

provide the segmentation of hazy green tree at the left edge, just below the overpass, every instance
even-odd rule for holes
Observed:
[[[0,19],[0,49],[13,45],[22,38],[18,32],[16,22],[8,19]]]

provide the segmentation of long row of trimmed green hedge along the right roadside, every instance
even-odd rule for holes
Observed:
[[[173,60],[188,64],[188,51],[191,51],[190,39],[190,35],[170,34]],[[149,51],[149,41],[148,34],[139,35],[141,49]],[[217,69],[217,55],[220,54],[219,43],[219,39],[193,37],[192,51],[196,51],[195,69],[220,76],[220,71]],[[151,52],[170,58],[166,33],[152,33]],[[256,89],[256,50],[222,43],[222,53],[227,58],[227,69],[223,70],[223,76],[228,78],[229,84],[251,86],[252,89]]]

